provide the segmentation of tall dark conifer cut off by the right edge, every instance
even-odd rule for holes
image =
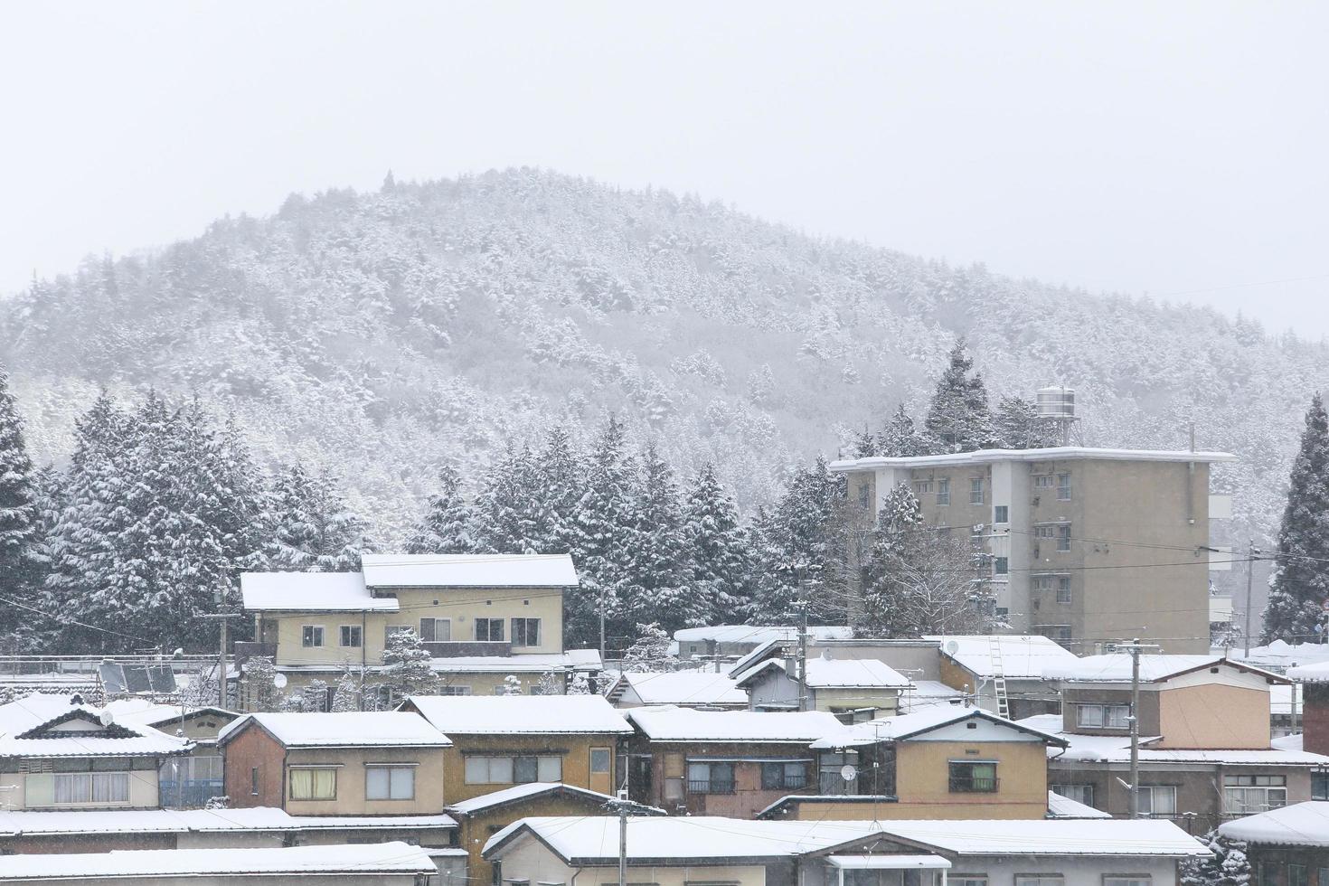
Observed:
[[[1316,636],[1329,600],[1329,418],[1320,392],[1306,410],[1301,448],[1292,462],[1278,554],[1269,579],[1263,643],[1304,643]]]

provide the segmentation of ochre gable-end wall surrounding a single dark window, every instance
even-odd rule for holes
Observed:
[[[896,751],[898,802],[892,818],[1042,818],[1047,812],[1047,752],[1041,741],[902,741]],[[950,793],[950,760],[995,760],[995,793]],[[944,812],[944,814],[937,814]]]

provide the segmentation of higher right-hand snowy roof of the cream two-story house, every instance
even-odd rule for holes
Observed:
[[[567,554],[364,554],[369,587],[577,587]]]

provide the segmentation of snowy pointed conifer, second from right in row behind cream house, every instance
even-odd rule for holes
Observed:
[[[642,453],[631,501],[638,543],[627,570],[625,616],[667,630],[706,624],[707,604],[688,570],[678,484],[654,442]]]

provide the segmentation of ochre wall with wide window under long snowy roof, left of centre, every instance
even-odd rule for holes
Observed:
[[[601,793],[611,793],[613,773],[617,766],[615,736],[585,735],[542,735],[542,736],[492,736],[449,733],[453,745],[445,751],[444,796],[448,802],[470,800],[481,794],[502,790],[512,785],[466,784],[468,756],[561,756],[563,760],[563,784],[587,788]],[[609,773],[591,777],[591,748],[607,748]]]

